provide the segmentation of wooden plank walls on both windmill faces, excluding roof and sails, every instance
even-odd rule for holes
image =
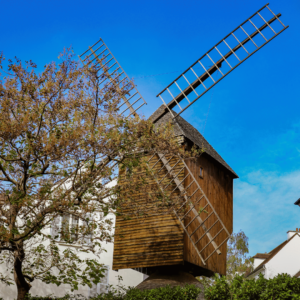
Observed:
[[[150,167],[157,162],[157,160],[158,157],[150,163]],[[177,162],[177,159],[172,159],[169,162],[170,166],[173,167],[175,162]],[[233,175],[205,153],[197,160],[187,159],[185,162],[223,221],[225,227],[232,233]],[[200,166],[203,168],[203,178],[199,177]],[[174,172],[179,172],[182,167],[183,164],[179,163],[174,168]],[[158,172],[160,169],[161,171],[158,174],[158,178],[162,179],[167,173],[162,162],[156,164],[154,172]],[[182,180],[185,175],[187,175],[187,173],[183,171],[178,178]],[[138,176],[147,177],[146,172],[142,171]],[[150,182],[151,180],[152,179],[149,179]],[[168,184],[170,180],[171,177],[167,176],[163,180],[164,185]],[[184,185],[187,187],[190,182],[191,178],[188,176],[184,181]],[[155,184],[155,181],[153,184]],[[188,190],[188,194],[193,194],[196,188],[197,185],[194,183]],[[175,192],[172,194],[172,199],[177,199],[179,197],[179,191],[176,190],[176,185],[172,182],[168,190],[171,191],[174,189]],[[190,199],[191,202],[195,202],[200,196],[201,193],[197,192]],[[225,275],[227,243],[224,243],[220,247],[220,255],[215,252],[207,260],[206,265],[204,265],[174,213],[170,212],[167,207],[157,209],[156,205],[158,202],[159,200],[156,200],[156,203],[149,203],[149,201],[145,200],[145,191],[138,191],[131,196],[128,200],[128,205],[123,207],[123,211],[130,212],[134,210],[134,207],[143,206],[147,215],[143,217],[133,215],[131,219],[124,219],[122,216],[116,217],[113,270],[178,265],[184,264],[186,261],[214,273]],[[202,199],[195,208],[199,211],[205,205],[206,201]],[[200,214],[202,220],[212,212],[209,207],[206,208],[206,211],[207,213],[203,211]],[[183,213],[184,212],[182,212],[182,214]],[[184,221],[185,225],[187,225],[193,217],[194,215],[192,213],[188,215]],[[213,214],[205,222],[206,228],[211,227],[216,220]],[[197,221],[191,223],[188,227],[189,232],[193,232],[198,225],[199,223]],[[210,230],[211,235],[214,237],[221,228],[218,222]],[[193,240],[198,240],[202,235],[204,235],[204,230],[200,227],[193,235]],[[225,231],[222,231],[214,241],[217,245],[220,245],[226,237]],[[207,246],[207,244],[209,245]],[[209,243],[209,239],[206,235],[204,235],[197,244],[197,248],[201,251],[204,258],[208,257],[210,253],[215,250],[212,243]],[[203,248],[205,249],[202,251]]]

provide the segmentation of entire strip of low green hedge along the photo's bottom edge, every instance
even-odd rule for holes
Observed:
[[[90,300],[195,300],[201,292],[194,285],[185,287],[163,287],[140,291],[135,288],[116,290]],[[300,279],[288,274],[279,274],[273,279],[265,279],[260,274],[257,280],[245,280],[236,276],[232,282],[226,277],[216,277],[213,285],[204,291],[206,300],[300,300]],[[28,300],[86,300],[83,296],[66,295],[56,297],[32,297]]]

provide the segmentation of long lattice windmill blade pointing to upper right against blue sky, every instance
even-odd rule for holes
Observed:
[[[225,36],[157,95],[166,106],[163,114],[170,111],[173,117],[176,117],[172,109],[177,115],[181,114],[231,71],[289,27],[279,19],[281,14],[275,15],[268,5],[263,6]],[[200,73],[197,69],[200,69]]]

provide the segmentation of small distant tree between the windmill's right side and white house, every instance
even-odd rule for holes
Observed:
[[[253,259],[248,256],[248,240],[242,230],[233,233],[228,240],[226,278],[229,281],[232,281],[235,275],[244,275],[253,269]]]

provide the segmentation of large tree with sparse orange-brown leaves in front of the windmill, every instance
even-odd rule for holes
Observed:
[[[97,213],[114,213],[131,190],[145,190],[147,182],[133,176],[137,166],[147,168],[141,153],[185,155],[170,124],[154,132],[151,122],[118,114],[130,83],[116,74],[101,89],[106,73],[81,67],[70,50],[60,60],[38,74],[32,61],[17,58],[5,68],[0,55],[0,266],[7,266],[0,280],[12,284],[13,274],[18,300],[36,279],[72,290],[98,283],[103,268],[97,260],[81,260],[69,248],[61,252],[50,228],[65,243],[76,241],[99,255],[100,241],[112,239],[113,224]],[[119,168],[132,175],[122,185]],[[162,196],[162,203],[168,200]],[[59,216],[81,222],[56,229]]]

